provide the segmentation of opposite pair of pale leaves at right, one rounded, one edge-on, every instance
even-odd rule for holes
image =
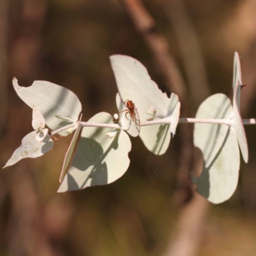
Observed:
[[[244,161],[248,162],[248,143],[239,109],[241,85],[241,65],[239,55],[235,52],[233,108],[226,95],[216,94],[206,99],[196,113],[196,118],[231,121],[230,126],[195,124],[194,144],[204,155],[204,168],[200,177],[192,175],[192,178],[198,193],[214,204],[228,200],[236,190],[240,166],[239,147]]]

